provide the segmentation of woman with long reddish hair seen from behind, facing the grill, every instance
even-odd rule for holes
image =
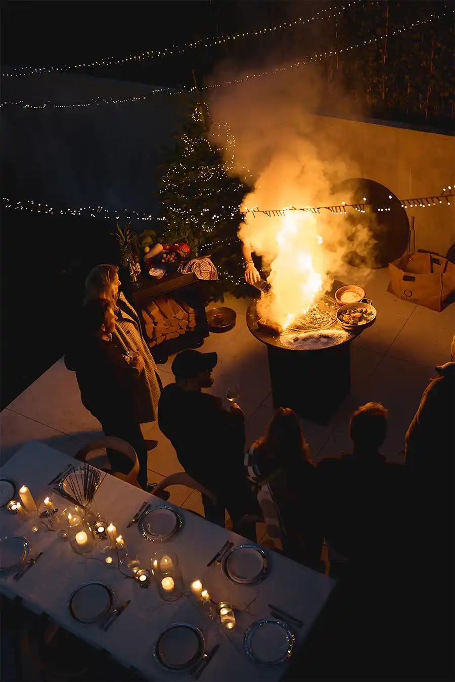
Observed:
[[[293,410],[276,410],[246,464],[275,548],[281,544],[290,559],[319,567],[323,535],[315,513],[314,467]]]

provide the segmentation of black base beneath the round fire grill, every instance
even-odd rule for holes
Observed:
[[[351,387],[349,342],[319,351],[290,351],[267,345],[274,408],[290,407],[327,424]]]

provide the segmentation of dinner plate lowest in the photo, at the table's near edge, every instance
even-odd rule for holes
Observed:
[[[188,670],[199,663],[204,647],[199,628],[189,623],[173,623],[158,638],[155,657],[168,670]]]

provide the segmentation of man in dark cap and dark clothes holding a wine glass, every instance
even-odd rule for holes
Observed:
[[[222,408],[221,398],[203,393],[214,383],[216,353],[183,351],[175,356],[175,383],[164,387],[158,403],[158,425],[177,452],[186,473],[214,492],[214,505],[202,496],[205,518],[224,527],[224,509],[233,530],[256,541],[254,522],[239,522],[258,513],[244,469],[245,416],[239,406]]]

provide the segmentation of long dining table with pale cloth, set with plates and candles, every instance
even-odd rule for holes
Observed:
[[[1,479],[10,479],[17,491],[27,486],[38,510],[44,498],[50,496],[57,508],[58,518],[70,502],[60,496],[49,481],[65,466],[80,466],[74,458],[40,443],[29,441],[0,469]],[[234,491],[233,491],[234,492]],[[15,496],[18,499],[18,492]],[[181,528],[166,542],[149,542],[132,520],[143,503],[150,509],[166,505],[175,509],[181,518]],[[146,680],[189,680],[190,670],[175,672],[164,668],[156,657],[156,643],[160,635],[173,623],[188,623],[199,628],[205,641],[205,651],[216,651],[201,672],[201,680],[212,681],[272,681],[281,679],[299,647],[308,636],[312,624],[320,614],[336,581],[309,567],[287,559],[280,552],[261,547],[269,564],[265,578],[256,584],[237,584],[226,577],[222,563],[211,563],[214,555],[228,540],[234,547],[251,545],[245,537],[217,526],[188,509],[164,503],[141,488],[106,475],[97,490],[91,512],[107,524],[113,523],[126,544],[125,552],[136,554],[142,569],[151,569],[151,557],[157,550],[166,550],[178,557],[184,589],[175,601],[163,599],[151,577],[149,587],[143,588],[126,564],[106,563],[106,553],[95,545],[90,552],[78,554],[68,538],[63,537],[59,524],[46,527],[38,511],[14,514],[3,506],[0,510],[0,537],[25,537],[31,554],[42,552],[40,559],[20,578],[0,571],[0,591],[10,599],[19,598],[23,605],[37,614],[46,614],[57,625],[84,640],[96,649],[107,651],[126,668],[133,668]],[[33,531],[37,529],[38,531]],[[203,607],[194,596],[190,584],[200,580],[209,593],[211,610]],[[68,608],[70,596],[80,585],[102,582],[114,593],[115,604],[128,608],[104,631],[96,623],[80,623]],[[235,613],[235,627],[226,629],[220,623],[216,606],[228,602]],[[270,604],[302,621],[299,627],[287,623],[294,637],[293,653],[276,665],[263,665],[246,652],[244,634],[256,621],[274,619]],[[205,603],[207,606],[207,602]],[[282,614],[280,614],[282,615]],[[214,649],[216,647],[216,649]]]

